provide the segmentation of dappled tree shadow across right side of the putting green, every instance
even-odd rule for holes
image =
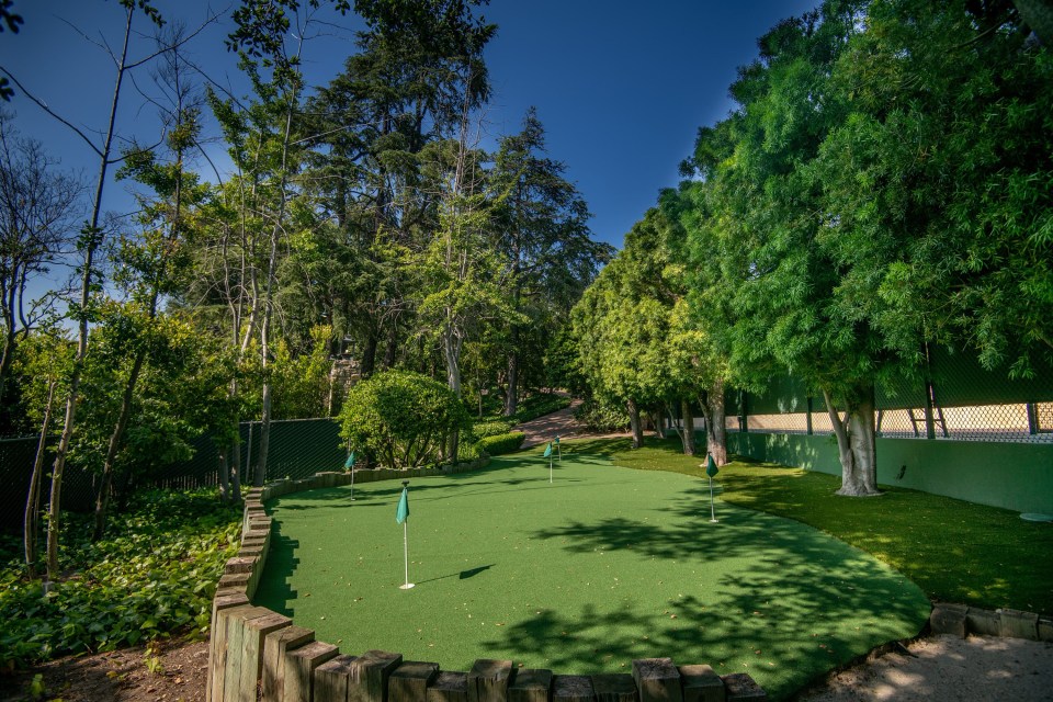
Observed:
[[[874,558],[811,528],[749,510],[722,506],[721,521],[711,523],[709,505],[700,513],[688,503],[702,492],[689,490],[668,524],[612,517],[535,535],[561,539],[571,553],[630,551],[727,570],[712,592],[688,592],[660,614],[629,608],[600,613],[592,607],[543,611],[509,627],[503,644],[484,646],[510,646],[575,672],[600,657],[671,656],[680,665],[707,663],[721,673],[749,672],[780,699],[925,625],[928,600]]]

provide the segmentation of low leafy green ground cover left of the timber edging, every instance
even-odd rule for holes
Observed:
[[[216,582],[237,552],[240,512],[218,505],[212,490],[150,491],[113,520],[113,535],[94,543],[86,517],[67,521],[60,566],[68,575],[46,596],[39,581],[23,579],[18,547],[4,543],[0,669],[207,633]]]

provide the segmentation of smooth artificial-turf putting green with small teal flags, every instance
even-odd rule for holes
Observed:
[[[554,477],[535,452],[414,479],[409,590],[401,485],[275,499],[256,602],[352,654],[563,673],[670,656],[749,672],[773,699],[928,616],[917,586],[809,526],[718,498],[711,523],[704,480],[581,454]]]

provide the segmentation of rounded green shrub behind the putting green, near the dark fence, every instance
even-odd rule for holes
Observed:
[[[451,434],[469,426],[449,387],[408,371],[384,371],[352,387],[339,420],[351,446],[393,468],[442,462]]]

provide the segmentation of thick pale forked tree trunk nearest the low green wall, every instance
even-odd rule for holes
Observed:
[[[874,388],[862,388],[851,397],[842,418],[830,394],[823,390],[826,411],[834,424],[841,461],[841,488],[838,495],[870,497],[878,489],[878,452],[874,443]]]

